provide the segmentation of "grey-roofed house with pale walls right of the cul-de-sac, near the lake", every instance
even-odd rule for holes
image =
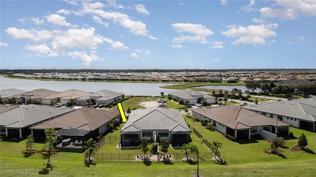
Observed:
[[[206,101],[208,104],[215,104],[216,97],[195,91],[192,89],[184,89],[175,92],[168,93],[172,99],[189,101],[189,105]]]

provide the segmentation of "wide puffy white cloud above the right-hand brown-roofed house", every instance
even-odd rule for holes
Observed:
[[[227,31],[223,31],[222,34],[229,37],[239,37],[239,39],[235,40],[231,44],[234,45],[244,45],[244,44],[266,44],[266,38],[276,36],[276,32],[273,29],[277,28],[277,24],[269,24],[269,25],[257,25],[257,26],[248,26],[243,27],[239,26],[238,28],[235,25],[229,26],[230,28]]]

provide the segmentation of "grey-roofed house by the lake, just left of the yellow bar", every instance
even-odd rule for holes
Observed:
[[[111,90],[100,90],[89,95],[82,96],[76,99],[77,105],[87,105],[87,99],[91,100],[93,104],[111,104],[116,101],[124,99],[124,93],[119,93]]]

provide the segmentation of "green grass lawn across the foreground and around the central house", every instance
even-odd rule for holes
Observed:
[[[158,98],[158,97],[157,97]],[[152,101],[156,98],[150,98]],[[144,108],[139,105],[147,100],[147,97],[135,97],[128,99],[122,103],[124,110]],[[168,100],[167,108],[178,108],[177,103]],[[266,140],[251,140],[242,142],[233,142],[225,138],[217,131],[210,131],[202,126],[200,122],[195,122],[191,118],[186,118],[191,130],[195,128],[206,140],[212,140],[222,143],[221,152],[222,162],[205,161],[199,162],[199,174],[204,177],[292,177],[304,176],[314,177],[316,173],[316,133],[305,130],[290,128],[293,137],[286,138],[286,147],[279,148],[284,152],[280,154],[267,154],[264,149],[270,148],[270,143]],[[113,132],[105,135],[105,139],[111,140],[113,143],[106,142],[96,154],[128,154],[130,159],[135,159],[136,154],[143,154],[140,149],[122,150],[117,148],[119,141],[119,130],[123,123],[119,125]],[[304,133],[308,139],[309,151],[291,151],[290,149],[297,144],[298,137]],[[194,133],[190,134],[194,142],[198,141]],[[117,142],[113,141],[117,140]],[[41,149],[42,143],[38,142],[35,149]],[[197,173],[197,163],[193,161],[170,161],[169,163],[158,163],[158,161],[97,161],[88,165],[84,163],[84,153],[76,152],[60,152],[53,154],[47,166],[47,157],[43,157],[39,153],[31,156],[24,156],[21,152],[25,149],[26,140],[0,141],[0,170],[1,176],[15,176],[12,172],[16,170],[24,170],[32,176],[38,177],[45,174],[47,177],[192,177]],[[181,153],[180,149],[169,148],[171,154]],[[209,153],[210,150],[206,146],[201,146],[201,151]],[[149,153],[148,153],[149,154]],[[189,155],[190,156],[190,155]]]

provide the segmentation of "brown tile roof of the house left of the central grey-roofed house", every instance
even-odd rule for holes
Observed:
[[[109,111],[90,109],[82,107],[69,114],[47,120],[31,129],[45,129],[53,126],[55,128],[70,127],[82,130],[95,130],[104,123],[119,116],[118,109],[113,108]]]

